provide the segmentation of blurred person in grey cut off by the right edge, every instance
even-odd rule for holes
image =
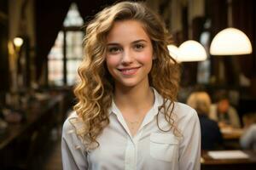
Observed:
[[[248,113],[243,118],[244,133],[241,135],[241,148],[256,150],[256,113]]]

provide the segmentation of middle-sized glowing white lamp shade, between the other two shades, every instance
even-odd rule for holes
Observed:
[[[183,42],[178,48],[177,60],[181,62],[203,61],[207,59],[207,52],[201,43],[194,40]]]

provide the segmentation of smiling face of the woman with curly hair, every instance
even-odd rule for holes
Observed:
[[[106,62],[116,87],[148,83],[153,46],[136,20],[116,21],[107,36]]]

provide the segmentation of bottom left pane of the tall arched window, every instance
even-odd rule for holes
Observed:
[[[48,80],[50,85],[63,85],[63,60],[48,61]]]

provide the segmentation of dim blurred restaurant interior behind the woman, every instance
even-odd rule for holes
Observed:
[[[0,0],[0,169],[62,169],[61,129],[77,102],[84,26],[116,2]],[[201,169],[255,169],[255,128],[251,144],[242,139],[256,124],[253,0],[143,2],[172,34],[168,49],[181,68],[177,101],[205,92],[211,106],[224,99],[236,116],[233,126],[207,115],[218,125],[219,144],[204,145],[212,131],[201,122]]]

